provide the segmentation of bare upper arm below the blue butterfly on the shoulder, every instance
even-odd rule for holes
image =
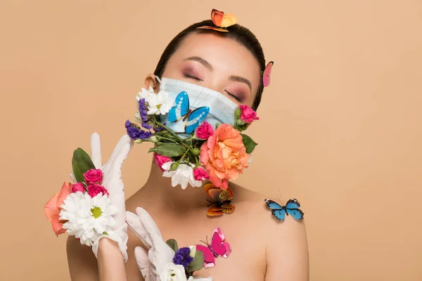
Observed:
[[[268,230],[265,281],[308,281],[305,223],[288,216],[283,222],[269,221]]]

